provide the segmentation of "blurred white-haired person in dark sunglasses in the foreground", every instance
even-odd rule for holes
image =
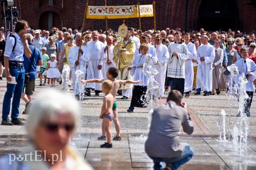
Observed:
[[[21,152],[24,159],[27,154],[26,161],[16,160],[12,165],[0,161],[0,169],[92,169],[69,147],[79,117],[74,98],[51,90],[42,92],[37,95],[30,113],[26,124],[28,150]]]

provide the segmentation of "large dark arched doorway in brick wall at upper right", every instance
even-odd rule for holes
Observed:
[[[202,0],[198,11],[198,30],[238,29],[238,12],[234,0]]]

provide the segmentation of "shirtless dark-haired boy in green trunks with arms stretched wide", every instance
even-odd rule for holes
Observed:
[[[112,88],[112,91],[111,91],[111,94],[113,95],[114,97],[114,105],[113,105],[113,114],[114,114],[114,124],[115,124],[115,128],[116,128],[116,137],[113,138],[113,140],[121,140],[121,137],[120,137],[120,124],[119,124],[119,121],[118,121],[118,118],[117,118],[117,106],[116,106],[116,93],[117,93],[117,90],[120,86],[120,84],[137,84],[139,82],[141,82],[141,80],[138,80],[138,81],[131,81],[131,80],[116,80],[116,77],[118,76],[118,69],[116,67],[109,67],[108,68],[108,71],[107,71],[107,78],[108,80],[112,81],[113,82],[113,88]],[[93,83],[93,82],[96,82],[96,83],[102,83],[104,81],[103,80],[99,80],[99,79],[91,79],[91,80],[82,80],[81,82],[82,83]],[[106,140],[106,136],[105,136],[106,132],[104,131],[104,127],[103,127],[103,124],[102,124],[102,136],[98,138],[98,140]]]

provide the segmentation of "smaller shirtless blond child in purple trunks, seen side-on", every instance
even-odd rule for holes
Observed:
[[[110,126],[111,122],[113,120],[113,103],[114,103],[114,97],[110,93],[112,90],[113,83],[110,80],[105,80],[102,82],[101,85],[101,91],[105,94],[103,97],[103,104],[101,107],[101,113],[100,113],[100,119],[102,120],[102,125],[104,125],[104,130],[107,133],[107,143],[100,145],[101,148],[112,148],[111,143],[111,131]]]

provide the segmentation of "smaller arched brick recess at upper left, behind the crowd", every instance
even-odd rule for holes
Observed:
[[[62,29],[62,20],[59,14],[53,11],[42,13],[39,19],[39,29],[50,31],[52,26],[55,26],[60,30]]]

